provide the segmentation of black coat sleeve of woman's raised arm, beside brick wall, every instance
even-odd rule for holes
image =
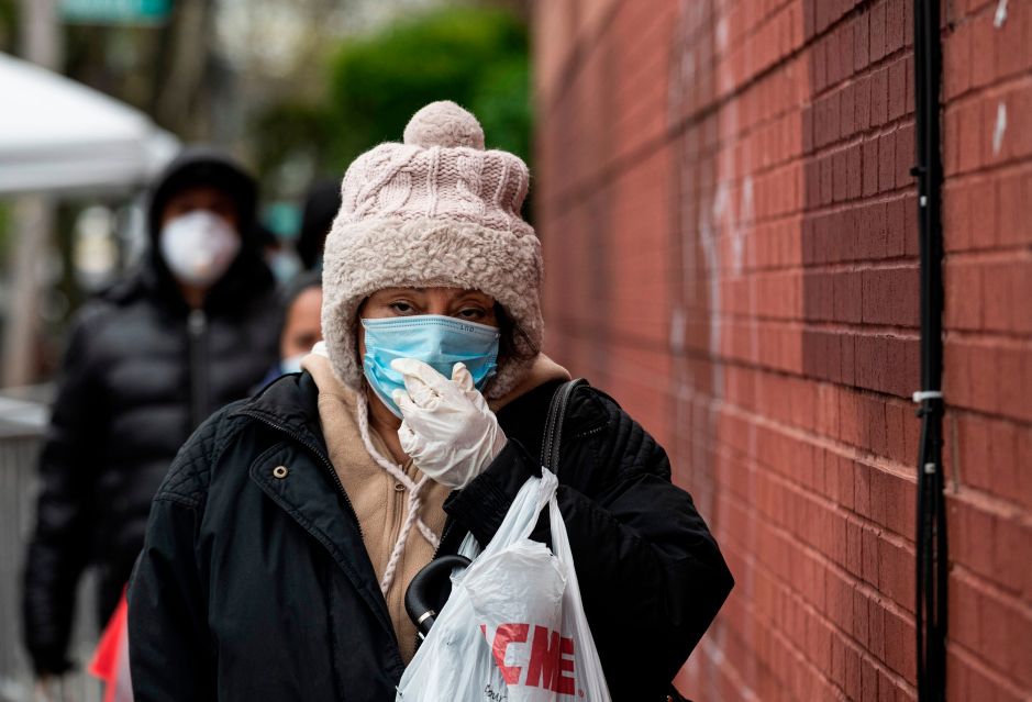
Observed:
[[[670,482],[663,448],[593,390],[573,403],[598,422],[564,438],[558,501],[607,682],[614,700],[664,699],[733,579],[691,495]],[[445,509],[486,544],[537,466],[510,441]]]

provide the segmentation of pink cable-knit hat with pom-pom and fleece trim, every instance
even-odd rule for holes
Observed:
[[[541,348],[541,244],[520,216],[526,165],[485,151],[477,119],[454,102],[432,102],[387,143],[355,159],[341,185],[343,204],[326,238],[322,328],[337,378],[359,389],[355,336],[362,301],[384,288],[479,290],[521,333],[517,358],[499,359],[485,394],[523,379]]]

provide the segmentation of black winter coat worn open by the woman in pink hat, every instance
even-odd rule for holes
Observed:
[[[510,441],[445,501],[441,554],[467,530],[487,544],[540,475],[556,385],[498,413]],[[286,376],[176,458],[130,586],[137,702],[395,699],[404,665],[317,399],[311,376]],[[559,505],[613,699],[665,699],[731,573],[663,449],[615,402],[577,389],[563,431]]]

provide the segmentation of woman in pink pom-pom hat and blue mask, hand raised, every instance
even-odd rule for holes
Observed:
[[[140,699],[395,699],[407,586],[491,539],[569,377],[540,353],[528,180],[451,102],[348,168],[324,344],[206,423],[155,499],[130,590]],[[731,576],[615,402],[578,388],[563,431],[558,501],[613,699],[666,699]]]

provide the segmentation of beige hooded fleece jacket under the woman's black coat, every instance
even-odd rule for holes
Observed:
[[[358,415],[355,391],[341,383],[333,375],[330,359],[320,354],[310,354],[301,361],[301,368],[312,375],[319,388],[319,420],[322,425],[330,461],[344,491],[351,500],[373,570],[377,580],[381,580],[390,551],[401,526],[404,524],[408,504],[408,491],[395,480],[366,452],[358,430]],[[541,355],[535,360],[526,378],[506,397],[490,403],[491,410],[502,406],[533,390],[556,379],[569,379],[565,368]],[[369,427],[369,438],[374,448],[390,459],[390,450],[376,430]],[[409,459],[402,469],[413,481],[419,481],[423,473]],[[422,491],[423,522],[439,536],[444,530],[444,500],[448,488],[431,481]],[[434,556],[434,547],[423,537],[418,528],[412,528],[406,539],[404,551],[395,571],[395,579],[387,591],[387,610],[390,614],[395,634],[401,648],[401,657],[408,664],[415,653],[415,625],[404,611],[404,592],[415,577]]]

